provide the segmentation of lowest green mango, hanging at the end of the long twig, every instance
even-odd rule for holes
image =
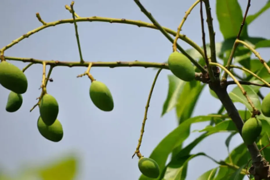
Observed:
[[[149,178],[159,177],[159,165],[153,159],[141,157],[138,167],[141,173]]]

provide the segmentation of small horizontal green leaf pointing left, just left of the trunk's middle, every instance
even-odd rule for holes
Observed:
[[[218,123],[215,126],[207,126],[199,132],[207,131],[208,133],[217,133],[217,132],[228,132],[228,131],[237,131],[235,124],[232,120],[224,120]]]

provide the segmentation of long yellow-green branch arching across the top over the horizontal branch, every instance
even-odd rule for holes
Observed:
[[[66,7],[67,8],[67,7]],[[69,8],[67,8],[69,10]],[[75,15],[76,16],[76,15]],[[93,22],[93,21],[98,21],[98,22],[109,22],[109,23],[120,23],[120,24],[131,24],[131,25],[136,25],[138,27],[146,27],[146,28],[152,28],[152,29],[158,29],[154,24],[143,22],[143,21],[135,21],[135,20],[129,20],[129,19],[116,19],[116,18],[107,18],[107,17],[78,17],[75,19],[76,22]],[[19,43],[21,40],[28,38],[29,36],[39,32],[40,30],[43,30],[48,27],[53,27],[57,26],[59,24],[66,24],[66,23],[73,23],[73,19],[62,19],[59,21],[53,21],[53,22],[48,22],[46,25],[40,26],[36,29],[33,29],[29,31],[28,33],[22,35],[21,37],[13,40],[10,44],[4,46],[3,48],[0,49],[0,55],[4,55],[4,51],[6,51],[8,48],[11,48],[15,44]],[[173,31],[169,28],[163,27],[163,29],[168,32],[169,34],[176,36],[176,31]],[[185,41],[186,43],[190,44],[193,48],[195,48],[201,55],[204,57],[204,51],[202,48],[193,42],[191,39],[189,39],[186,35],[179,34],[179,39]],[[2,56],[1,56],[2,57]]]

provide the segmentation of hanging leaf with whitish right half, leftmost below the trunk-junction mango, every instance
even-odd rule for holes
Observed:
[[[175,75],[168,75],[169,79],[169,89],[167,98],[163,104],[163,110],[161,116],[171,111],[177,104],[177,98],[179,93],[182,91],[185,81],[177,78]]]

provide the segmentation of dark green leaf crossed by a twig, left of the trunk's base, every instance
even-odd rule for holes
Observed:
[[[249,159],[250,154],[247,151],[247,147],[244,143],[242,143],[230,153],[230,155],[225,159],[225,162],[241,167],[242,165],[246,164]],[[228,177],[230,177],[235,171],[236,170],[226,166],[220,166],[215,180],[228,180]],[[243,178],[244,175],[240,174],[238,180],[242,180]]]

